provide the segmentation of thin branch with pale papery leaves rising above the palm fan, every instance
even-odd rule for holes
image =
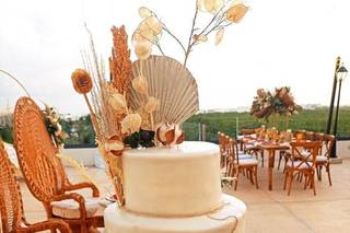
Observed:
[[[208,36],[213,32],[217,32],[214,44],[220,44],[223,38],[224,27],[228,27],[233,23],[238,23],[244,18],[248,8],[241,0],[235,0],[231,3],[230,2],[231,1],[225,2],[224,0],[196,1],[196,11],[191,22],[191,30],[186,44],[187,46],[184,46],[180,39],[171,32],[165,23],[162,22],[153,11],[141,7],[139,9],[139,14],[142,18],[142,21],[132,35],[132,42],[136,46],[137,56],[143,60],[148,58],[151,54],[152,45],[155,45],[164,55],[164,51],[160,46],[160,36],[162,35],[162,32],[165,32],[180,46],[185,57],[184,66],[186,66],[189,54],[192,51],[194,46],[207,42]],[[213,15],[203,27],[196,26],[200,12],[206,12]]]

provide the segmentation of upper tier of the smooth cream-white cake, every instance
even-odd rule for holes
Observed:
[[[122,154],[125,208],[150,215],[200,215],[221,205],[219,148],[188,142]]]

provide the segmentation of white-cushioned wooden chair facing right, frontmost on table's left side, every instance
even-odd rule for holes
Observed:
[[[226,175],[230,177],[236,178],[234,190],[237,189],[238,177],[241,172],[246,173],[247,177],[250,179],[250,183],[253,185],[255,183],[256,188],[259,188],[258,178],[257,178],[258,161],[253,158],[240,160],[237,152],[238,152],[237,142],[233,139],[230,139],[228,144],[229,158],[228,158]]]

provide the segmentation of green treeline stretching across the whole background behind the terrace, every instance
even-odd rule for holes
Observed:
[[[312,108],[312,109],[310,109]],[[312,131],[324,131],[328,118],[328,107],[310,106],[302,110],[299,115],[293,116],[289,125],[282,118],[277,126],[279,130],[284,130],[287,127],[295,129],[306,129]],[[0,138],[8,142],[12,142],[12,126],[8,116],[2,119],[0,126]],[[10,124],[7,124],[10,123]],[[218,131],[225,132],[235,137],[242,128],[255,128],[266,125],[271,126],[271,123],[258,120],[250,116],[247,112],[230,112],[230,113],[198,113],[186,123],[183,124],[186,140],[199,139],[199,125],[206,125],[206,139],[210,141],[217,140]],[[61,121],[63,130],[69,135],[66,144],[94,144],[95,136],[91,126],[90,116],[69,117]],[[332,129],[332,128],[331,128]],[[350,136],[350,106],[342,106],[339,110],[338,135]]]

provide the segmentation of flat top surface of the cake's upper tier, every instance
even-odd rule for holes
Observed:
[[[185,141],[174,147],[156,147],[145,149],[131,149],[124,152],[124,156],[152,156],[152,158],[179,158],[188,155],[218,154],[219,147],[203,141]]]

